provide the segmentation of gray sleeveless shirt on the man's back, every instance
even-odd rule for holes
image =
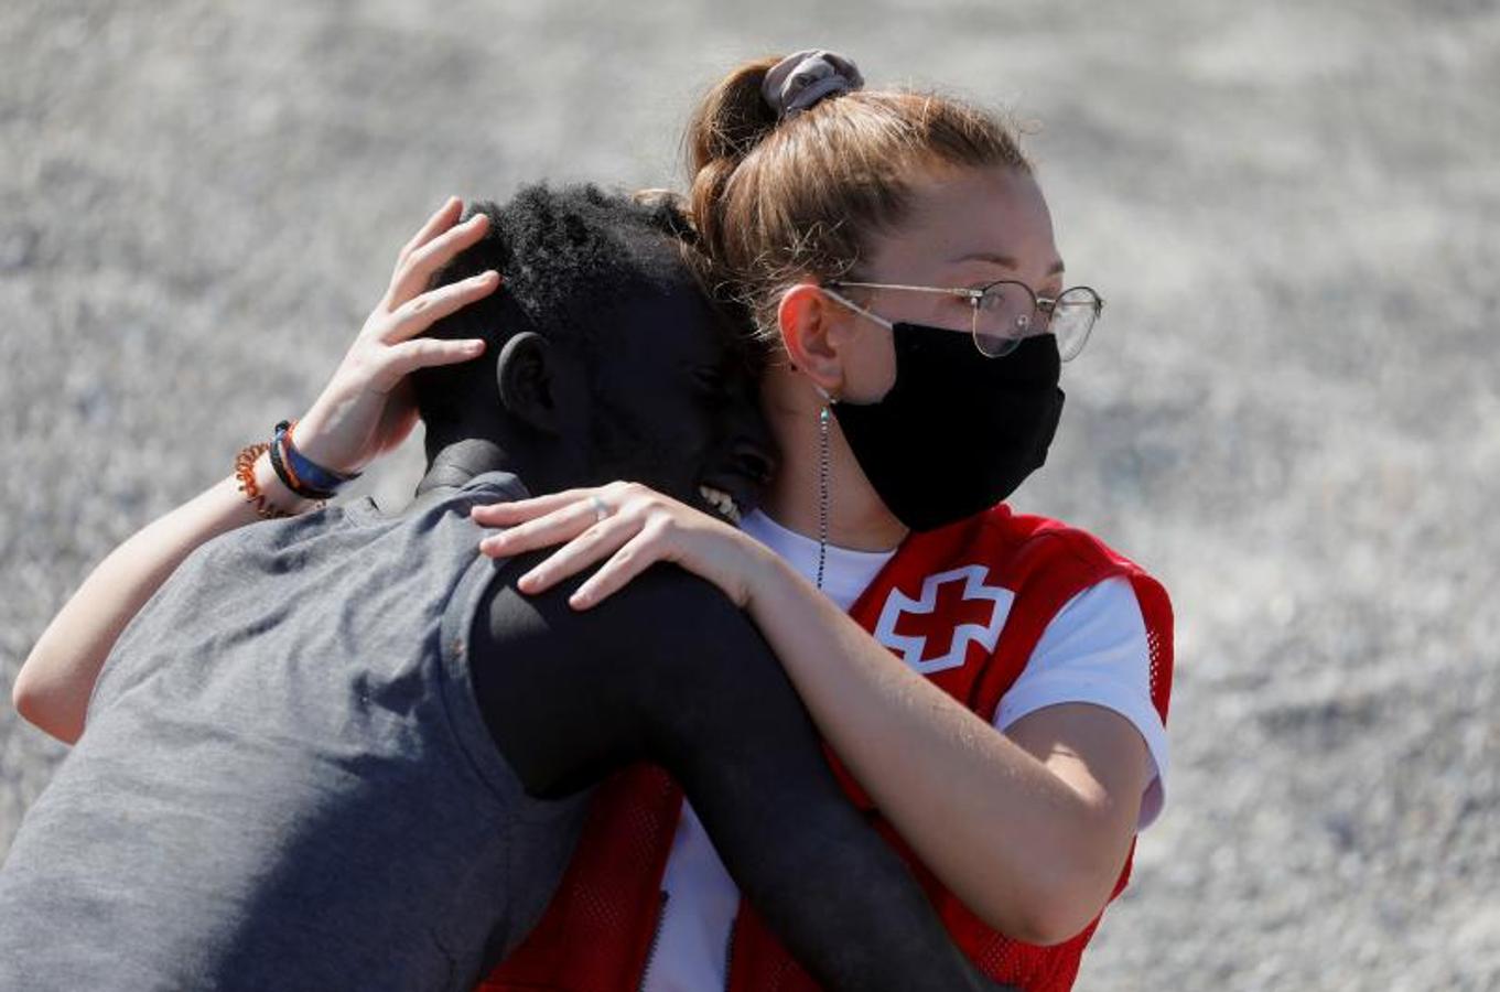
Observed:
[[[524,795],[470,683],[490,473],[200,548],[120,636],[0,869],[0,989],[468,989],[584,797]]]

